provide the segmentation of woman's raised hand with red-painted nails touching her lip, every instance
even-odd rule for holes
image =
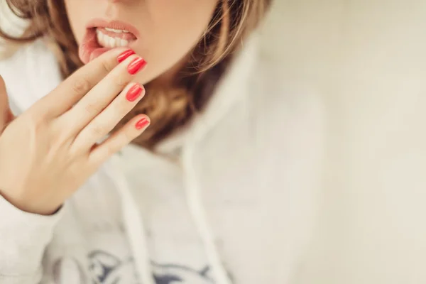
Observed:
[[[148,117],[138,115],[97,144],[145,94],[131,83],[144,61],[124,51],[104,53],[17,118],[0,77],[0,195],[11,204],[53,214],[102,163],[148,127]]]

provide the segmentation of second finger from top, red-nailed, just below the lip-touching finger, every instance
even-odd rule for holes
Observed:
[[[63,115],[65,121],[72,121],[67,128],[72,133],[82,131],[90,121],[108,107],[117,94],[129,84],[131,77],[141,71],[145,65],[145,60],[137,55],[131,55],[109,72],[75,107]]]

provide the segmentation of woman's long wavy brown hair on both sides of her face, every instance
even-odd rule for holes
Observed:
[[[266,14],[272,0],[219,0],[207,31],[191,50],[190,60],[180,71],[173,89],[160,89],[146,85],[151,95],[146,96],[116,126],[119,129],[136,114],[147,114],[151,126],[133,143],[153,148],[163,138],[186,124],[202,111],[212,97],[215,82],[226,71],[241,42],[253,31]],[[83,64],[63,0],[6,0],[21,18],[31,21],[20,38],[0,30],[0,37],[11,43],[28,43],[37,38],[48,40],[60,64],[63,77],[67,77]],[[152,95],[155,93],[154,95]],[[116,130],[114,129],[114,130]]]

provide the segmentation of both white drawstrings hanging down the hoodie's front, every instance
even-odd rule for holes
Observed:
[[[219,251],[214,244],[212,230],[207,223],[207,216],[202,206],[200,190],[198,189],[195,169],[192,167],[192,151],[190,147],[185,147],[182,151],[182,162],[185,170],[185,190],[187,195],[187,203],[190,214],[194,220],[195,226],[202,239],[202,244],[207,254],[207,260],[212,267],[212,275],[217,284],[231,284],[228,274],[219,256]],[[114,155],[109,167],[105,167],[109,175],[116,182],[116,187],[121,195],[121,203],[123,204],[123,219],[126,232],[129,237],[131,251],[138,272],[139,278],[143,284],[155,284],[153,271],[151,268],[151,260],[148,252],[148,241],[146,238],[146,229],[143,219],[138,210],[138,206],[131,195],[129,184],[126,177],[119,167],[119,157]]]

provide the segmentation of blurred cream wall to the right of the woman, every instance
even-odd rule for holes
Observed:
[[[327,116],[317,238],[295,283],[425,283],[426,1],[275,5],[267,53]]]

